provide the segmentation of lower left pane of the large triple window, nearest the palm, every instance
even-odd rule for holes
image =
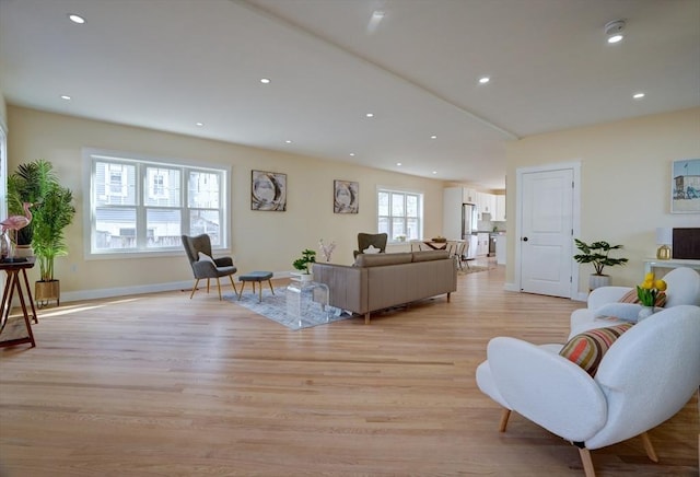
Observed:
[[[97,249],[136,248],[136,209],[98,207],[95,219]]]

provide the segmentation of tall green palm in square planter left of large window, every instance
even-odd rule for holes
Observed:
[[[39,264],[34,300],[39,305],[56,300],[60,305],[60,281],[55,277],[54,265],[56,257],[68,255],[65,230],[75,216],[73,194],[61,185],[50,162],[37,160],[21,164],[8,178],[8,208],[16,211],[20,202],[25,217],[26,202],[33,203],[32,220],[21,230],[31,229],[31,244]]]

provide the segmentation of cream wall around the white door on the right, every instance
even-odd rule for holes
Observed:
[[[670,213],[672,161],[700,159],[700,108],[533,136],[508,144],[509,257],[515,256],[517,167],[581,162],[581,236],[622,244],[622,267],[606,268],[614,284],[643,278],[643,260],[656,253],[657,226],[700,226],[700,214]],[[579,270],[580,291],[592,268]],[[508,261],[506,281],[516,264]]]

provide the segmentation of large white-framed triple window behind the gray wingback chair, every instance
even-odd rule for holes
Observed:
[[[228,170],[103,151],[85,159],[91,255],[179,251],[182,234],[229,247]]]

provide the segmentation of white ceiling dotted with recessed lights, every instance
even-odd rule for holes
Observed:
[[[0,90],[499,189],[508,141],[699,106],[700,1],[0,0]]]

